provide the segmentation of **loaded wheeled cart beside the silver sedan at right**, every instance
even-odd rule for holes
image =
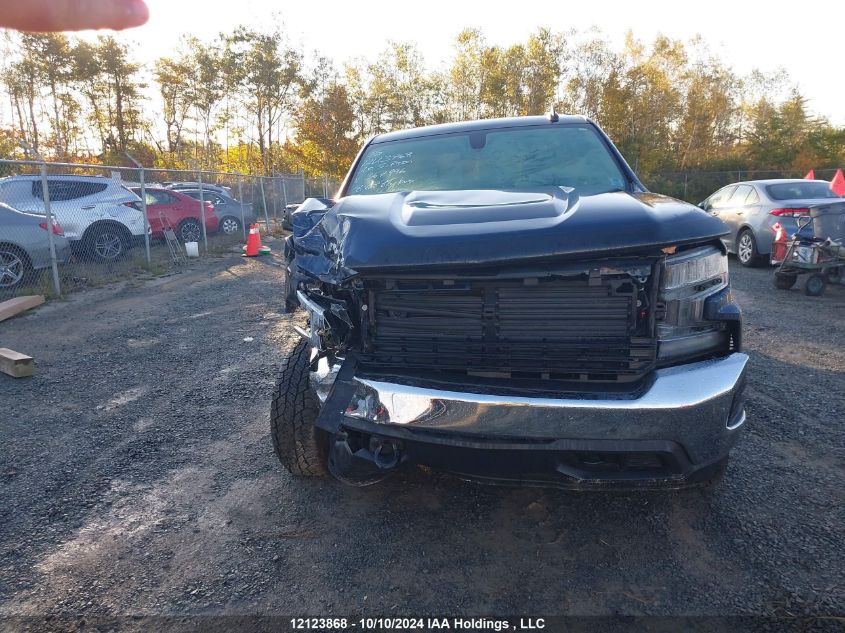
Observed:
[[[776,227],[772,263],[778,265],[774,284],[781,290],[792,288],[799,275],[807,275],[804,294],[810,297],[824,294],[828,283],[839,283],[845,272],[845,202],[810,207],[791,237]]]

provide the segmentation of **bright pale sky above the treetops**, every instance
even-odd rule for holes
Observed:
[[[188,32],[216,37],[238,24],[281,23],[292,43],[317,49],[340,67],[347,59],[373,58],[389,40],[417,44],[427,64],[447,59],[455,36],[478,27],[490,44],[525,40],[544,26],[555,31],[598,27],[614,45],[625,32],[645,42],[662,33],[675,39],[704,37],[737,72],[784,68],[810,109],[845,125],[845,82],[841,41],[845,38],[842,0],[816,0],[787,9],[785,3],[747,0],[619,2],[502,2],[487,0],[147,0],[150,22],[127,36],[148,62],[171,51]],[[787,11],[781,10],[787,9]]]

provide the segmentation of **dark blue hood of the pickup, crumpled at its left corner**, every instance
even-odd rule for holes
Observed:
[[[348,196],[319,211],[294,214],[296,263],[334,282],[377,270],[654,252],[728,232],[717,218],[666,196],[578,196],[566,187]]]

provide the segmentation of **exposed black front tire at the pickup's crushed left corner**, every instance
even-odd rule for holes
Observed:
[[[317,394],[311,387],[310,348],[301,340],[287,358],[273,391],[270,434],[282,465],[300,477],[321,477],[328,473],[328,437],[314,426],[320,412]]]

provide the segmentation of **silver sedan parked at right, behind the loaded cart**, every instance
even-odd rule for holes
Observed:
[[[768,261],[776,225],[793,235],[808,207],[831,198],[838,196],[826,180],[750,180],[722,187],[699,206],[730,227],[722,241],[739,263],[757,266]]]

